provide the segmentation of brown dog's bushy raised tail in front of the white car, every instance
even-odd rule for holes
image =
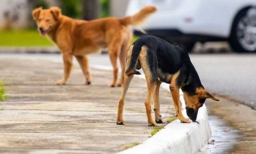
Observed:
[[[133,16],[127,16],[122,18],[120,21],[123,25],[133,25],[138,27],[142,24],[150,15],[156,12],[155,6],[146,6],[142,8],[138,13],[134,14]]]

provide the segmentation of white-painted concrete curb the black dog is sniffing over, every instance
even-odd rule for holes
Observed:
[[[98,65],[94,65],[92,68],[112,70],[111,67]],[[145,78],[144,76],[136,77]],[[162,84],[161,87],[169,90],[168,84]],[[182,113],[187,117],[181,90],[180,101],[182,103]],[[118,152],[118,154],[196,154],[211,138],[211,129],[205,105],[199,109],[197,121],[200,124],[195,122],[182,124],[180,120],[175,120],[142,144]]]

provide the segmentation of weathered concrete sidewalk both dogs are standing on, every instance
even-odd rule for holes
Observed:
[[[120,126],[116,107],[121,88],[108,87],[112,72],[92,70],[92,85],[85,86],[75,64],[67,85],[55,86],[62,64],[17,59],[0,63],[0,81],[8,95],[0,102],[0,153],[112,154],[151,136],[142,79],[132,80],[124,105],[126,125]],[[160,103],[167,120],[175,113],[169,92],[161,90]]]

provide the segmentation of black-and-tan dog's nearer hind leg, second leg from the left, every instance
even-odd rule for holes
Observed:
[[[150,52],[146,46],[142,46],[139,60],[142,70],[144,71],[144,74],[146,76],[148,87],[147,97],[145,100],[146,114],[148,117],[148,126],[157,126],[156,122],[152,119],[151,116],[151,100],[157,88],[156,59],[154,57],[153,52]]]

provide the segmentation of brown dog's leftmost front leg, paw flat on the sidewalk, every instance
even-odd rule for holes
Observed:
[[[68,52],[62,53],[62,58],[63,58],[63,65],[64,65],[64,76],[62,79],[56,81],[57,85],[63,85],[66,83],[72,69],[72,60],[73,60],[72,54]]]

